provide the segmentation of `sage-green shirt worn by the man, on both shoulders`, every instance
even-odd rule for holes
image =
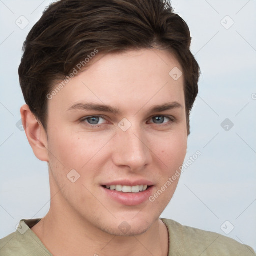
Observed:
[[[0,239],[1,256],[49,256],[52,254],[30,229],[41,219],[22,219],[17,231]],[[255,256],[253,249],[218,233],[183,226],[161,218],[168,228],[168,256]]]

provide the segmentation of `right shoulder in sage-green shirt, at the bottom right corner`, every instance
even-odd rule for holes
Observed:
[[[224,235],[201,230],[194,227],[183,226],[180,223],[161,218],[169,232],[169,248],[177,255],[203,256],[253,256],[253,249]],[[179,254],[178,254],[179,253]]]

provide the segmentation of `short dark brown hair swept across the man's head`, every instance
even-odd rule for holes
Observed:
[[[200,74],[190,43],[187,24],[167,0],[60,0],[49,5],[24,42],[20,86],[46,130],[47,94],[88,54],[156,45],[174,52],[182,66],[189,134]]]

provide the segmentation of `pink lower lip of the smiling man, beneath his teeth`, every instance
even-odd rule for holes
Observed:
[[[128,205],[128,206],[138,205],[148,200],[153,189],[153,186],[150,186],[145,191],[141,191],[137,193],[123,193],[122,191],[110,190],[103,186],[101,187],[103,188],[103,190],[108,196],[110,196],[117,202],[124,205]]]

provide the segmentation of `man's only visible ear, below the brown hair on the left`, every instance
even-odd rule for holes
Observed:
[[[20,108],[22,125],[35,156],[41,161],[48,161],[47,133],[42,124],[36,120],[28,105]]]

